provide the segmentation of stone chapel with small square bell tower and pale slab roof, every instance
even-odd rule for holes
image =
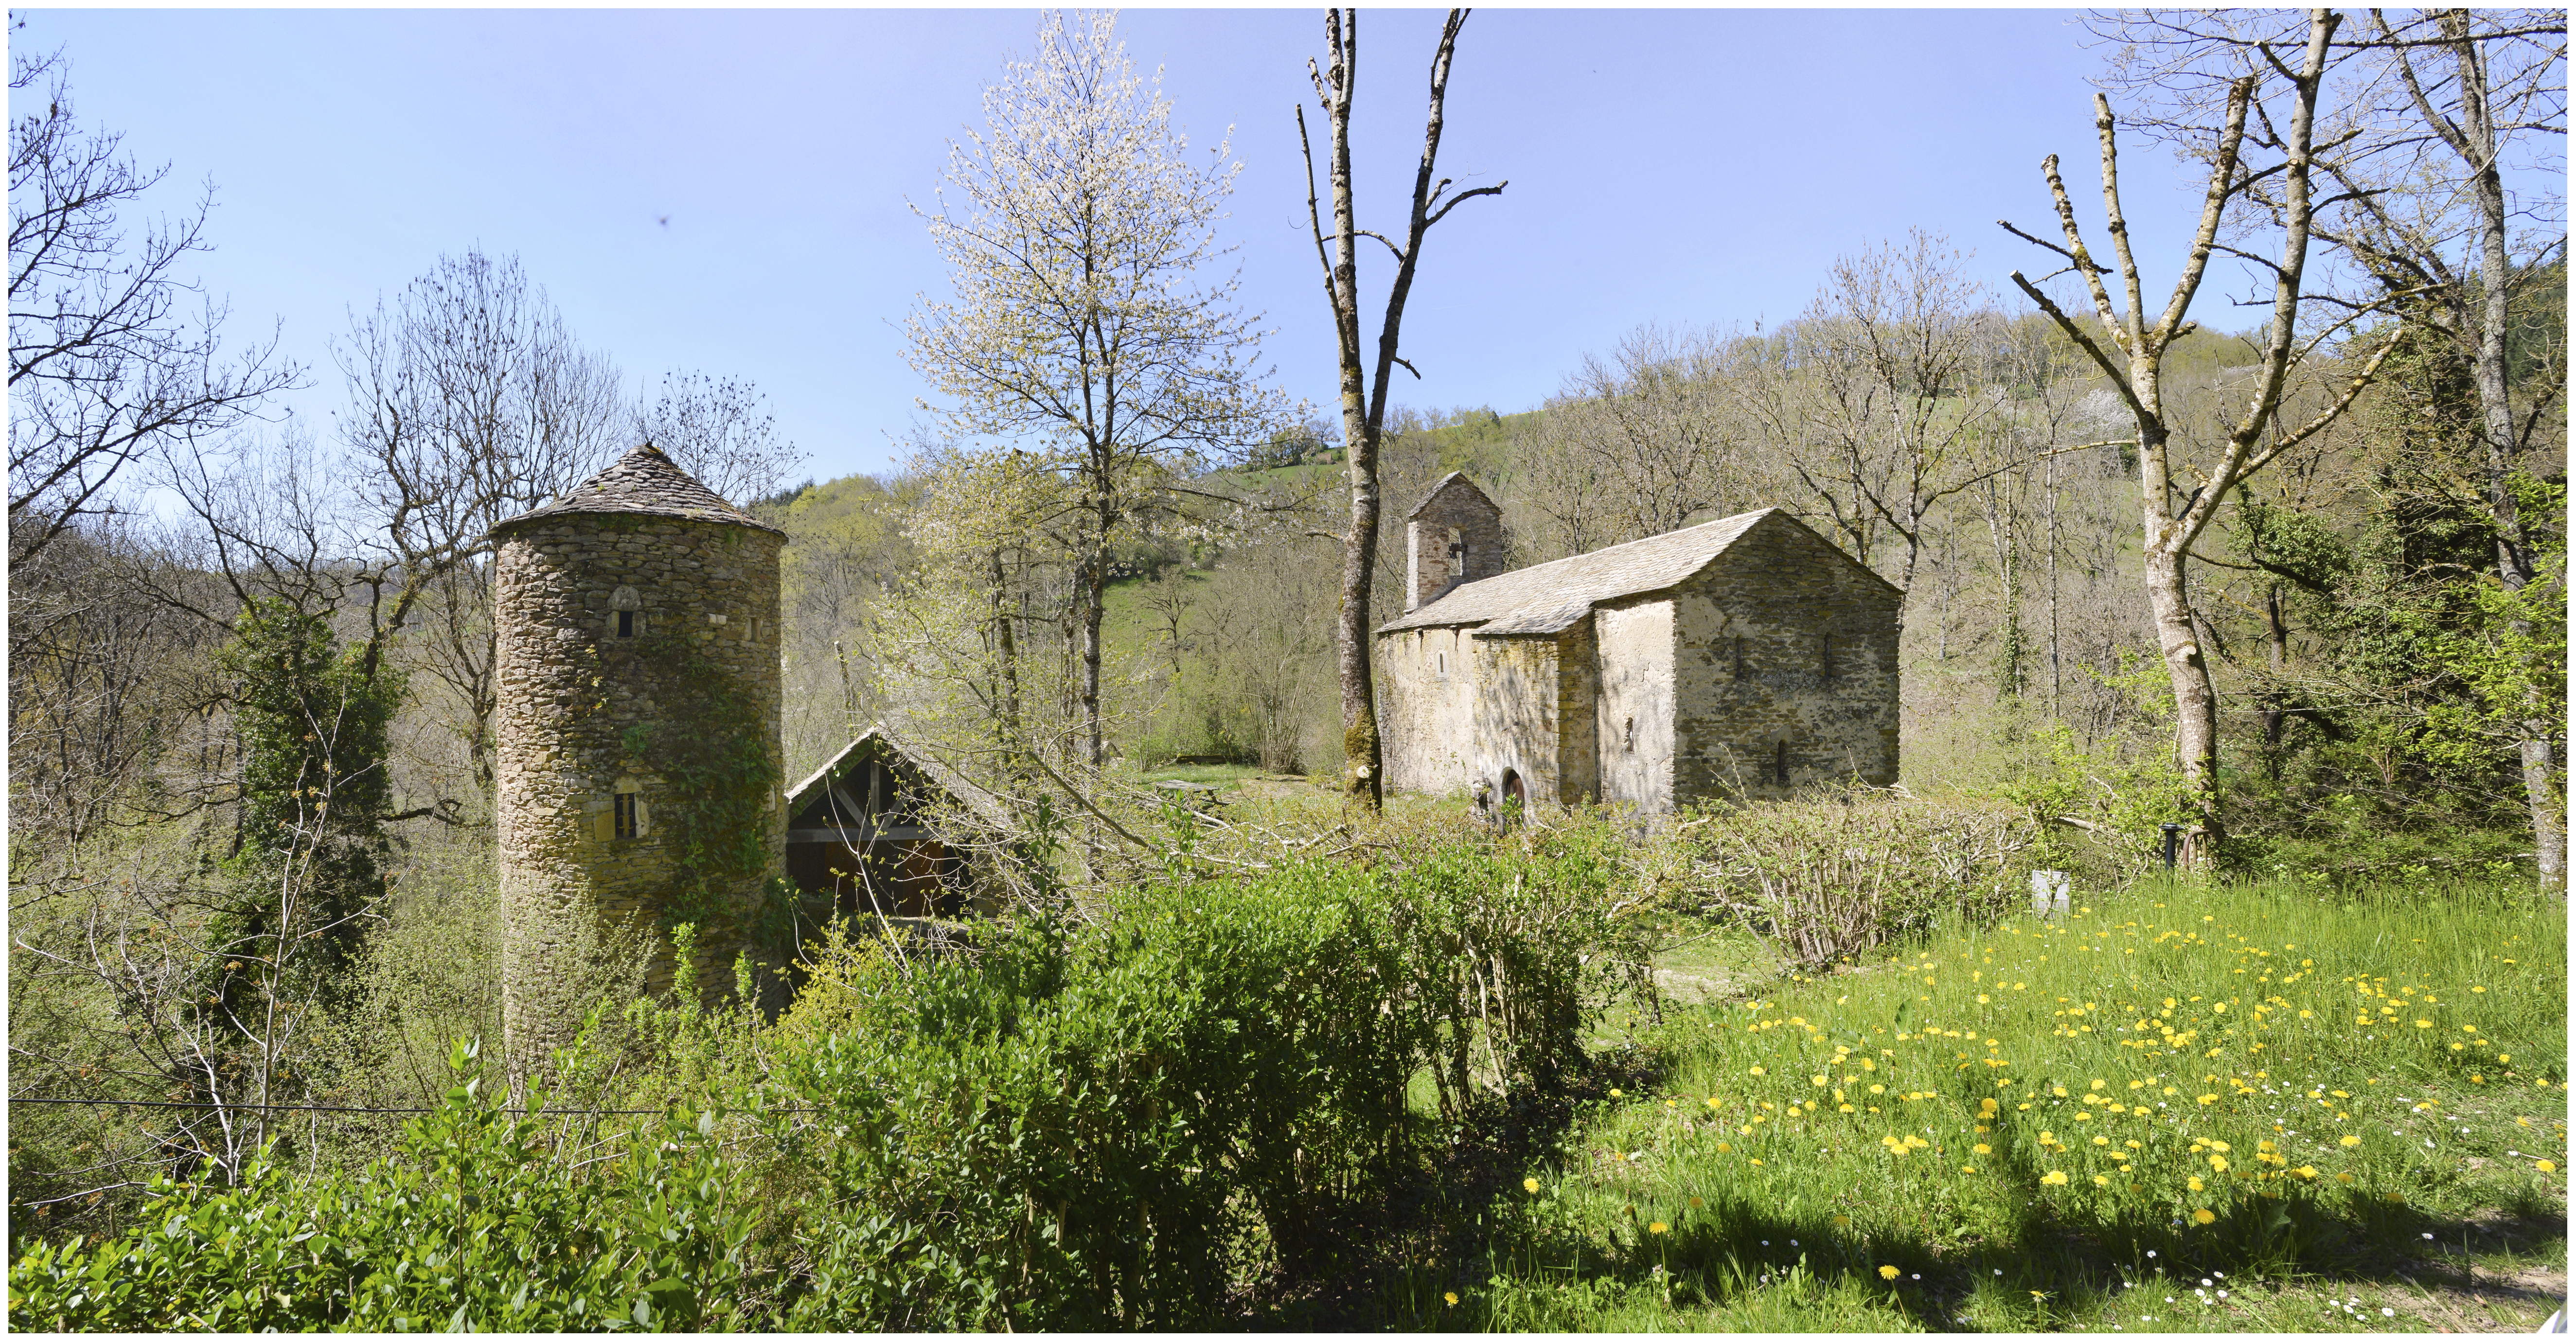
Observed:
[[[1404,541],[1388,788],[1667,811],[1896,780],[1901,592],[1777,507],[1502,572],[1502,510],[1450,474]]]

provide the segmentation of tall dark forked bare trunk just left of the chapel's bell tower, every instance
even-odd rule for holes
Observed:
[[[1422,162],[1414,170],[1414,203],[1406,216],[1404,245],[1358,224],[1350,183],[1350,108],[1360,88],[1360,10],[1324,10],[1324,67],[1306,62],[1314,77],[1314,95],[1324,106],[1332,129],[1332,255],[1324,252],[1324,219],[1314,196],[1314,142],[1306,137],[1306,108],[1296,108],[1298,144],[1306,149],[1306,227],[1314,234],[1314,255],[1324,265],[1324,299],[1332,304],[1334,350],[1342,368],[1342,440],[1350,446],[1345,469],[1350,477],[1350,533],[1342,538],[1342,613],[1334,631],[1342,683],[1342,786],[1370,806],[1383,801],[1383,752],[1378,747],[1378,690],[1370,670],[1370,587],[1378,554],[1378,430],[1386,422],[1386,379],[1396,363],[1406,373],[1422,376],[1396,353],[1404,330],[1404,299],[1414,288],[1422,265],[1422,237],[1432,224],[1476,196],[1499,196],[1504,185],[1476,185],[1448,196],[1450,178],[1432,175],[1440,162],[1443,108],[1448,103],[1450,57],[1458,52],[1458,28],[1468,10],[1450,10],[1440,23],[1440,46],[1432,52],[1432,106],[1422,129]],[[1396,278],[1386,288],[1386,314],[1378,325],[1378,358],[1370,373],[1360,353],[1360,237],[1373,237],[1396,255]]]

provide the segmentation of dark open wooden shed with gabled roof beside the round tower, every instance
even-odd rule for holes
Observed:
[[[981,788],[871,726],[788,791],[788,881],[829,899],[832,914],[956,917],[971,865],[925,819],[992,809]]]

